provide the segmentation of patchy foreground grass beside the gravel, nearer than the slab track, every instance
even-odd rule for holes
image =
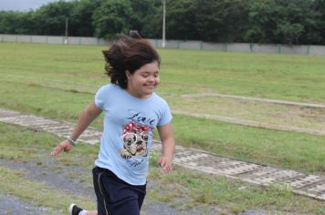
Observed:
[[[51,169],[58,174],[64,174],[64,169],[67,167],[77,169],[81,166],[90,171],[99,150],[98,146],[80,144],[72,151],[62,153],[58,158],[53,159],[49,157],[49,152],[61,138],[4,123],[0,123],[0,133],[2,134],[0,159],[37,163],[42,165],[44,170]],[[152,181],[154,186],[148,189],[147,204],[156,201],[167,202],[179,210],[196,207],[208,209],[217,206],[225,212],[232,213],[245,210],[279,210],[322,214],[325,211],[324,202],[294,195],[289,189],[283,187],[252,186],[177,167],[172,174],[162,174],[161,169],[156,166],[157,158],[157,154],[153,154],[150,162],[148,180]],[[94,209],[93,200],[73,192],[67,193],[59,188],[53,189],[47,183],[28,179],[27,174],[31,173],[0,167],[0,194],[11,194],[50,210],[66,209],[67,202],[76,202],[88,209]],[[79,174],[72,170],[66,174],[66,177],[78,179]],[[82,184],[91,186],[91,178],[83,178]]]

